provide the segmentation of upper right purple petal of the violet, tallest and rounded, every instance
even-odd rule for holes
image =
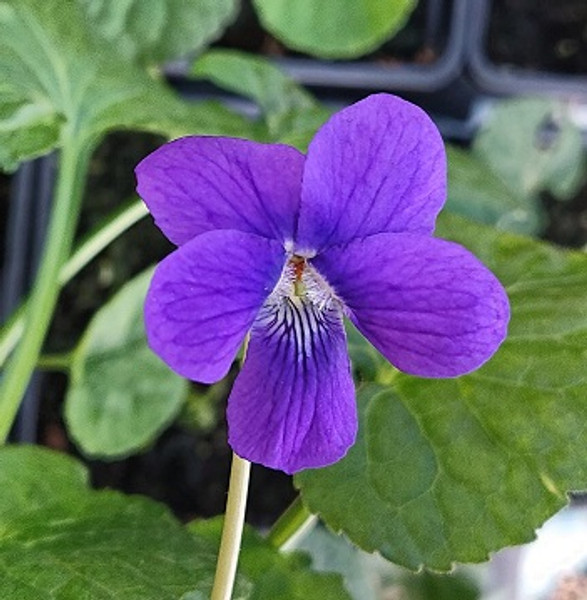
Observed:
[[[389,94],[336,113],[304,167],[297,246],[321,250],[381,232],[431,233],[446,198],[446,157],[420,108]]]

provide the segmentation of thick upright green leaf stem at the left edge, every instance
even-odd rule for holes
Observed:
[[[5,443],[22,397],[37,364],[61,288],[59,273],[69,252],[78,221],[91,148],[64,139],[45,250],[30,296],[20,345],[0,384],[0,443]]]

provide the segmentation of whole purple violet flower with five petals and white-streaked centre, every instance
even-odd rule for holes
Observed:
[[[505,337],[509,305],[463,247],[432,237],[445,201],[440,134],[377,94],[335,114],[307,156],[282,144],[186,137],[136,169],[138,192],[179,246],[157,267],[151,348],[202,383],[226,375],[229,443],[293,473],[355,440],[343,316],[398,369],[456,377]]]

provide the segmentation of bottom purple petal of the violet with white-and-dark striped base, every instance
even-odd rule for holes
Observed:
[[[273,469],[294,473],[342,458],[357,414],[340,309],[289,299],[264,306],[227,418],[232,449]]]

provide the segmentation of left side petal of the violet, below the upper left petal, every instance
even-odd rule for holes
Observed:
[[[211,231],[181,246],[159,263],[147,293],[149,345],[180,375],[218,381],[284,261],[278,242],[239,231]]]

